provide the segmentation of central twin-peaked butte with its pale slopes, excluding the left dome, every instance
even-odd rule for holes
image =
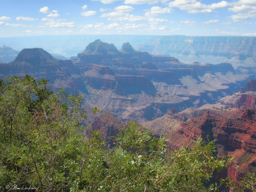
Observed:
[[[229,63],[187,65],[136,51],[129,43],[117,50],[99,39],[71,59],[87,84],[88,102],[123,121],[145,122],[174,107],[182,111],[215,103],[254,76],[238,73]]]

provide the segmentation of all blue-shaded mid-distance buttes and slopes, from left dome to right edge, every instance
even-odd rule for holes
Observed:
[[[49,79],[54,90],[82,94],[85,106],[138,122],[161,117],[171,108],[213,104],[255,76],[252,69],[234,70],[229,63],[187,65],[174,57],[136,51],[129,42],[117,50],[100,40],[71,60],[55,59],[39,48],[24,49],[0,69],[2,78],[29,74]]]

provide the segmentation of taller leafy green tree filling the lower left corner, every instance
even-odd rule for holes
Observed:
[[[52,93],[48,81],[27,75],[8,80],[0,89],[1,190],[94,190],[104,170],[104,142],[81,125],[87,119],[81,96]]]

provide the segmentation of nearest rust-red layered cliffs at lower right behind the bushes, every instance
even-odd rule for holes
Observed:
[[[255,110],[237,109],[230,112],[205,111],[200,117],[183,122],[180,128],[168,135],[168,147],[191,146],[198,136],[216,140],[218,156],[231,155],[234,162],[227,175],[240,181],[246,173],[255,172],[252,164],[256,159],[256,116]]]

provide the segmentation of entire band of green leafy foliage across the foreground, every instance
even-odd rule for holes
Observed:
[[[231,160],[215,157],[214,141],[202,138],[169,151],[165,138],[134,121],[105,150],[101,133],[84,126],[81,96],[47,86],[28,75],[0,81],[1,191],[209,191],[205,183]]]

